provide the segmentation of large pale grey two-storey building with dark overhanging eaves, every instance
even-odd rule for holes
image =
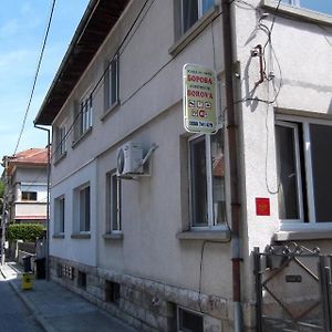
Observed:
[[[221,1],[92,0],[35,118],[53,131],[51,278],[141,331],[240,331],[241,313],[255,330],[253,248],[332,250],[332,18],[230,2],[228,106]],[[217,72],[215,135],[184,128],[186,63]]]

